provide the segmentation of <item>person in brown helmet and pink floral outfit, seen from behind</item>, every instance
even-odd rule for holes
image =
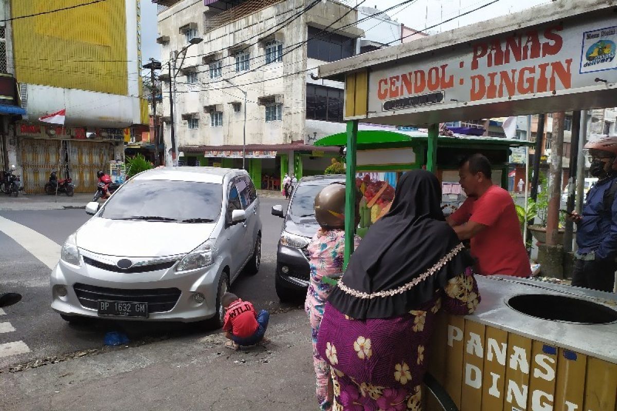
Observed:
[[[326,186],[315,197],[315,219],[320,225],[312,238],[309,251],[310,282],[304,309],[312,329],[313,365],[317,380],[317,401],[321,411],[331,410],[333,386],[328,363],[317,352],[317,335],[323,317],[326,298],[333,289],[323,281],[325,277],[339,276],[345,251],[345,185]],[[360,237],[354,237],[354,248]]]

